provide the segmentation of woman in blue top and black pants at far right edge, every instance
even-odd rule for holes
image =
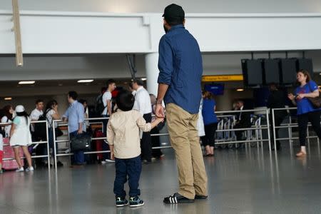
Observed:
[[[299,126],[299,139],[301,150],[297,157],[307,155],[305,141],[307,138],[307,123],[310,121],[313,130],[321,139],[320,108],[314,108],[308,98],[319,96],[319,88],[315,81],[312,81],[309,72],[305,70],[297,71],[297,83],[295,94],[289,93],[288,98],[297,106],[297,123]]]

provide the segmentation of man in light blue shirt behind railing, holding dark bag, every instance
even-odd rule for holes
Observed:
[[[78,94],[76,91],[68,92],[68,103],[70,104],[66,113],[63,114],[63,121],[68,120],[69,136],[81,135],[85,130],[83,126],[84,108],[83,104],[77,101]],[[74,164],[83,165],[85,163],[85,156],[83,151],[73,152]]]

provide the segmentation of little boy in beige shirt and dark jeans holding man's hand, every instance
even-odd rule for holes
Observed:
[[[111,115],[107,125],[107,140],[111,148],[111,158],[115,158],[116,178],[113,184],[113,193],[116,195],[116,206],[128,205],[123,185],[129,185],[129,205],[138,207],[144,205],[139,198],[141,190],[138,189],[141,176],[141,141],[139,128],[142,131],[151,131],[152,128],[163,121],[156,118],[152,123],[146,123],[139,111],[132,110],[135,98],[129,91],[121,91],[116,97],[118,111]]]

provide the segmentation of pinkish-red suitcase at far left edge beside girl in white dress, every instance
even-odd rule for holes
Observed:
[[[24,151],[22,151],[22,148],[20,147],[19,155],[22,158],[24,158]],[[6,158],[10,158],[11,160],[6,160]],[[24,161],[21,161],[21,164],[24,165]],[[2,168],[5,170],[15,170],[19,168],[18,163],[16,163],[16,160],[14,159],[14,148],[9,146],[9,138],[4,138],[4,158],[2,161]]]

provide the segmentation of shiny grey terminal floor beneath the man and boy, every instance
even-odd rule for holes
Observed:
[[[296,149],[296,148],[295,148]],[[173,151],[143,165],[142,208],[114,205],[114,166],[6,172],[0,175],[0,213],[321,213],[321,155],[313,143],[307,158],[297,159],[287,145],[269,153],[261,148],[218,150],[205,158],[208,200],[164,205],[177,188]]]

